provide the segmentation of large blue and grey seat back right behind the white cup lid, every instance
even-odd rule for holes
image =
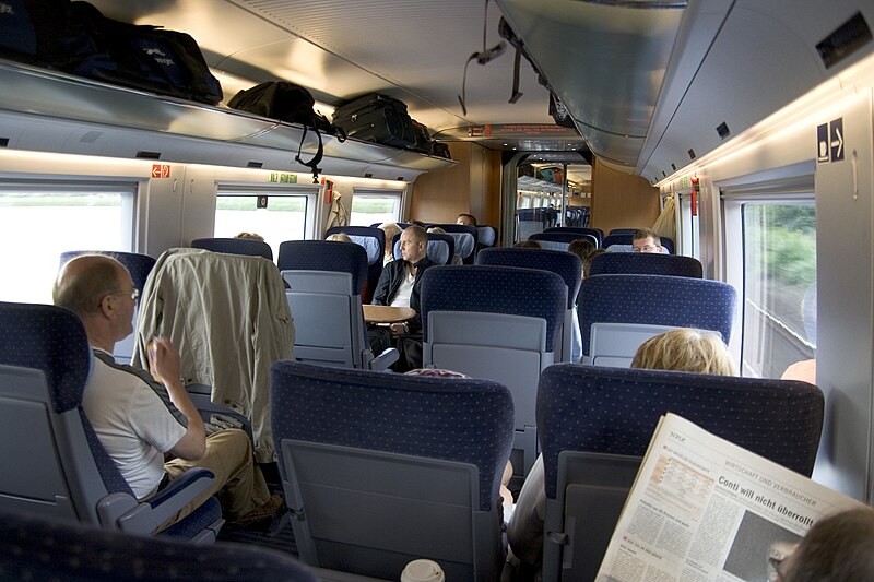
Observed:
[[[304,562],[397,580],[428,558],[447,580],[499,578],[513,417],[505,387],[294,361],[276,363],[271,384]]]

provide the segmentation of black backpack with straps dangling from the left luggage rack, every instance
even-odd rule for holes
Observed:
[[[335,135],[340,142],[346,140],[346,134],[341,128],[331,124],[327,117],[317,114],[312,109],[314,105],[316,105],[316,99],[312,98],[309,91],[287,81],[268,81],[240,91],[227,104],[228,107],[240,111],[304,126],[304,134],[300,136],[300,145],[297,147],[297,155],[294,158],[312,170],[312,181],[316,183],[321,171],[318,165],[324,156],[321,132]],[[310,129],[316,132],[319,147],[312,159],[304,162],[300,157],[300,150],[304,146],[307,131]]]

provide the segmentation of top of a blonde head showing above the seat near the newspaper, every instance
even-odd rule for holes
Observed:
[[[690,328],[660,333],[643,342],[631,368],[734,376],[736,368],[719,334]]]

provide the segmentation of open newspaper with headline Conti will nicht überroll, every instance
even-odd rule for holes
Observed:
[[[860,506],[668,414],[597,580],[776,580],[772,563],[788,556],[818,519]]]

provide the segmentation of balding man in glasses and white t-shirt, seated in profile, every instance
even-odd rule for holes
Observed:
[[[246,526],[272,518],[282,499],[270,495],[253,463],[248,435],[225,429],[206,437],[200,412],[180,379],[179,353],[169,340],[156,337],[151,346],[154,379],[145,370],[115,363],[116,342],[133,333],[139,296],[128,270],[102,254],[70,260],[55,282],[55,305],[79,316],[94,352],[82,406],[101,443],[140,500],[188,468],[200,466],[215,475],[205,492],[156,531],[178,522],[215,494],[233,524]],[[165,453],[173,458],[166,463]]]

